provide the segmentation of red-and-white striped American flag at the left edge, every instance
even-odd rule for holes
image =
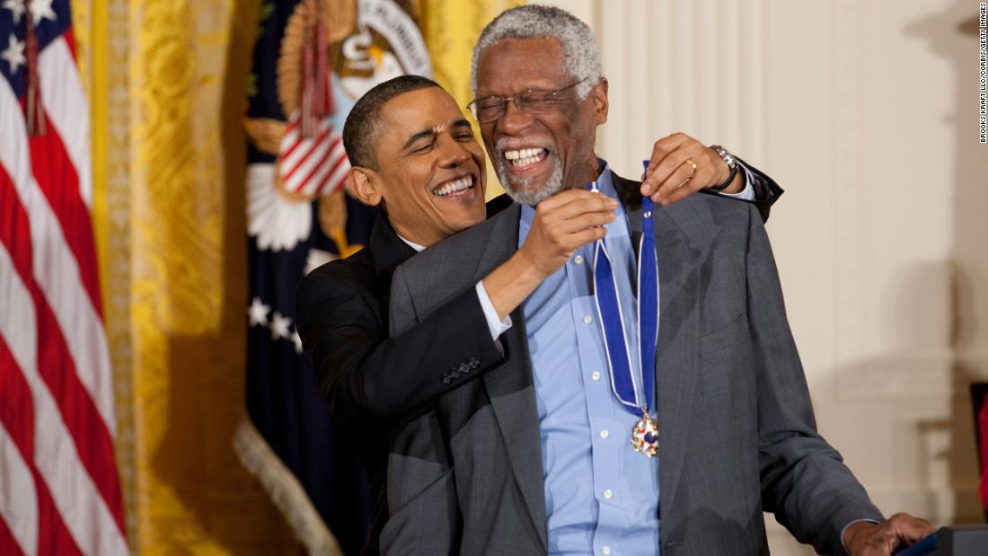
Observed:
[[[0,76],[0,553],[126,554],[69,0],[0,0]]]

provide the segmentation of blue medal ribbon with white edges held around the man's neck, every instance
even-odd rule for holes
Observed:
[[[645,162],[647,167],[647,161]],[[590,190],[599,192],[597,182]],[[631,414],[648,415],[648,400],[655,392],[655,347],[659,333],[659,268],[655,255],[655,227],[652,199],[641,199],[641,239],[637,257],[637,340],[638,368],[631,362],[620,293],[615,281],[611,256],[604,240],[594,247],[594,300],[604,333],[604,348],[611,371],[611,388],[617,400]]]

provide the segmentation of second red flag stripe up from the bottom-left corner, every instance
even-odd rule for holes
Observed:
[[[3,174],[3,169],[0,168],[0,179]],[[21,374],[21,369],[18,368],[17,361],[2,336],[0,336],[0,392],[3,392],[8,400],[22,402],[0,404],[0,422],[17,444],[22,459],[31,467],[31,475],[35,479],[35,491],[38,497],[38,553],[81,554],[71,533],[65,527],[65,522],[58,514],[51,493],[48,492],[48,487],[35,465],[35,408],[31,387]],[[0,527],[10,534],[3,519],[0,519]],[[0,549],[5,546],[15,547],[14,549],[19,551],[17,544],[13,542],[13,537],[11,536],[11,542],[7,542],[4,532],[0,531]],[[0,550],[0,554],[6,552]]]

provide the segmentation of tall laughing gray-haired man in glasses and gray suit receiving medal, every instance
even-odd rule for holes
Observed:
[[[826,554],[932,531],[883,520],[817,433],[756,208],[669,203],[669,184],[736,168],[676,136],[644,183],[596,156],[599,60],[557,8],[509,10],[478,40],[469,107],[516,203],[399,268],[392,333],[511,258],[571,190],[616,200],[615,219],[512,312],[501,365],[395,437],[383,551],[764,554],[763,511]]]

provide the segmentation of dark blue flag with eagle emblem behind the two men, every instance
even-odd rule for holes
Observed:
[[[361,249],[374,211],[343,191],[340,134],[375,84],[431,75],[405,3],[268,0],[247,95],[247,421],[235,448],[309,553],[359,553],[370,505],[352,438],[328,414],[294,324],[298,281]]]

